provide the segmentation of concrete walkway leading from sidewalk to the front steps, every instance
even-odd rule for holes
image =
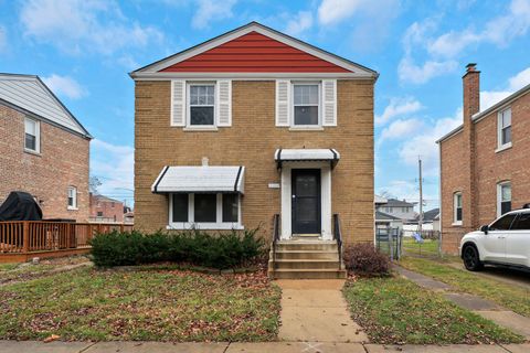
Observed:
[[[368,342],[353,322],[341,289],[344,280],[278,280],[282,288],[282,341]]]

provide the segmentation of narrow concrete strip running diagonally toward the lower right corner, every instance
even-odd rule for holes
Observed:
[[[484,298],[454,292],[454,289],[451,286],[431,277],[413,272],[400,266],[395,266],[394,268],[401,276],[412,280],[418,286],[435,291],[443,291],[445,298],[457,306],[470,310],[474,313],[491,320],[498,325],[508,328],[511,331],[523,335],[527,340],[530,340],[530,318],[515,313],[513,311],[507,310],[506,308]]]

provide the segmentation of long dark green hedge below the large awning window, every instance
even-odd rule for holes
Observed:
[[[102,267],[171,261],[226,269],[263,255],[264,240],[257,232],[257,228],[215,235],[199,229],[177,234],[113,232],[96,235],[91,245],[94,264]]]

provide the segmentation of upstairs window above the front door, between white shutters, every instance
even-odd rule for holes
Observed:
[[[320,94],[318,84],[300,83],[293,85],[294,125],[318,126]]]

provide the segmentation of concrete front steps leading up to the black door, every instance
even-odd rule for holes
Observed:
[[[275,279],[337,279],[346,278],[347,271],[339,263],[337,242],[294,239],[278,242],[276,257],[271,249],[268,276]]]

